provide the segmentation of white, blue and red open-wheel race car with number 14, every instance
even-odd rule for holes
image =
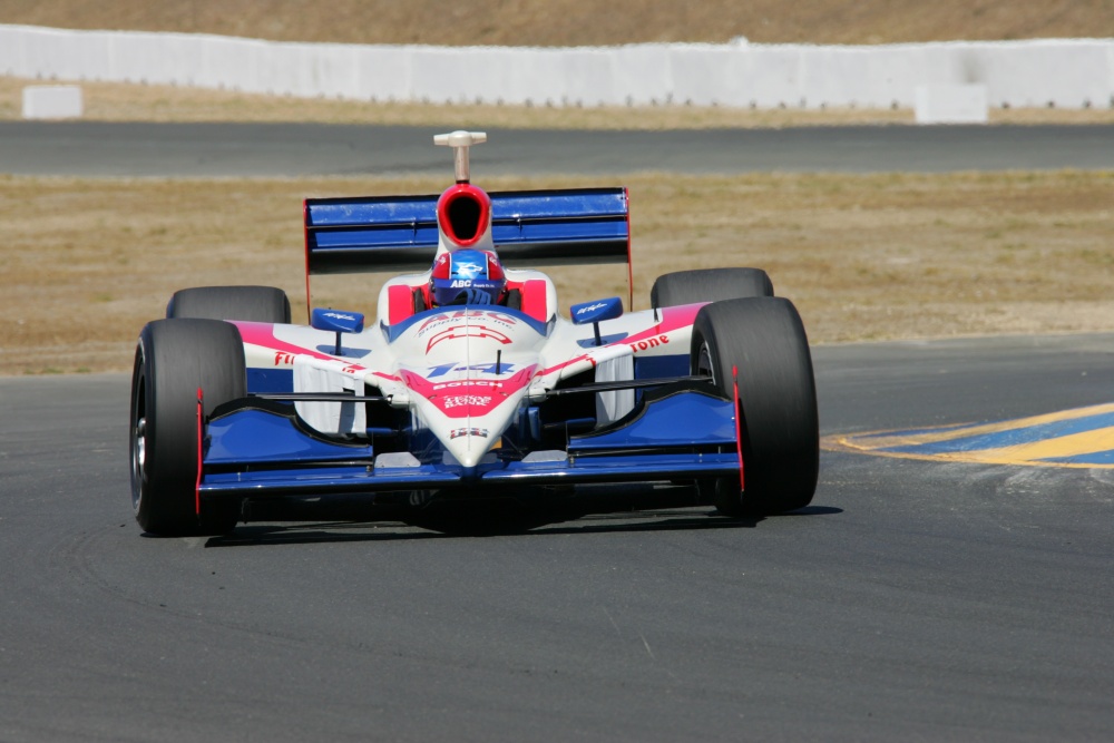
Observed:
[[[295,324],[282,290],[204,286],[144,326],[129,457],[146,532],[226,534],[253,507],[331,499],[423,525],[439,505],[599,483],[635,501],[688,488],[735,518],[811,501],[809,344],[766,273],[670,273],[647,310],[606,297],[566,316],[535,267],[626,263],[631,280],[627,192],[489,194],[469,173],[486,139],[434,137],[456,172],[439,195],[304,202],[307,299],[313,275],[408,272],[373,322],[321,307]]]

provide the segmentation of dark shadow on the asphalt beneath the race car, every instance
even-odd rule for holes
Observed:
[[[714,509],[688,508],[676,511],[644,510],[588,514],[571,520],[550,517],[545,522],[537,522],[536,519],[525,524],[511,520],[496,524],[457,525],[458,528],[440,525],[438,530],[403,521],[336,520],[313,524],[247,524],[242,525],[231,534],[208,539],[205,547],[751,529],[761,521],[771,518],[830,516],[842,512],[842,509],[839,508],[810,506],[773,517],[726,518],[717,515]]]

